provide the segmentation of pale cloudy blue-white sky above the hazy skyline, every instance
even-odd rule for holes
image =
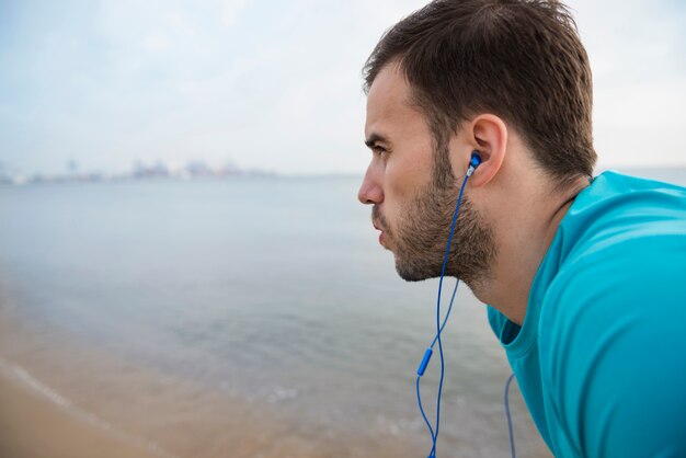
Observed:
[[[0,172],[357,173],[361,68],[410,0],[0,0]],[[686,167],[686,2],[569,1],[601,167]]]

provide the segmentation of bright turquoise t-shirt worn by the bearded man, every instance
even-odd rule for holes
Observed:
[[[488,314],[557,457],[686,457],[686,188],[603,173],[562,219],[523,325]]]

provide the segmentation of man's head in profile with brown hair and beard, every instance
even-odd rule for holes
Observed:
[[[375,154],[359,199],[375,205],[403,278],[439,274],[471,152],[456,150],[464,126],[470,135],[502,127],[502,141],[516,133],[553,188],[593,171],[591,70],[557,1],[433,1],[381,37],[364,78]],[[448,273],[468,283],[488,276],[494,230],[468,196],[457,227]]]

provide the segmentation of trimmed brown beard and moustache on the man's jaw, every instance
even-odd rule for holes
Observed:
[[[436,163],[432,180],[414,199],[402,206],[403,216],[392,232],[389,232],[388,221],[378,207],[373,208],[373,218],[379,221],[392,241],[396,271],[408,282],[441,276],[450,224],[464,180],[455,184],[447,148],[445,151],[437,149],[434,153]],[[445,160],[441,160],[441,156]],[[462,195],[445,274],[460,278],[473,290],[476,285],[488,280],[494,257],[492,228],[471,205],[468,196]]]

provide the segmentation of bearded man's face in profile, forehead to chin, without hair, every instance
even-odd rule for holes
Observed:
[[[374,205],[379,242],[393,252],[398,274],[421,280],[441,275],[461,179],[451,179],[448,146],[434,145],[424,115],[410,98],[395,65],[371,84],[365,137],[373,157],[358,198]],[[484,279],[494,255],[492,231],[481,219],[464,197],[446,273],[468,284]]]

